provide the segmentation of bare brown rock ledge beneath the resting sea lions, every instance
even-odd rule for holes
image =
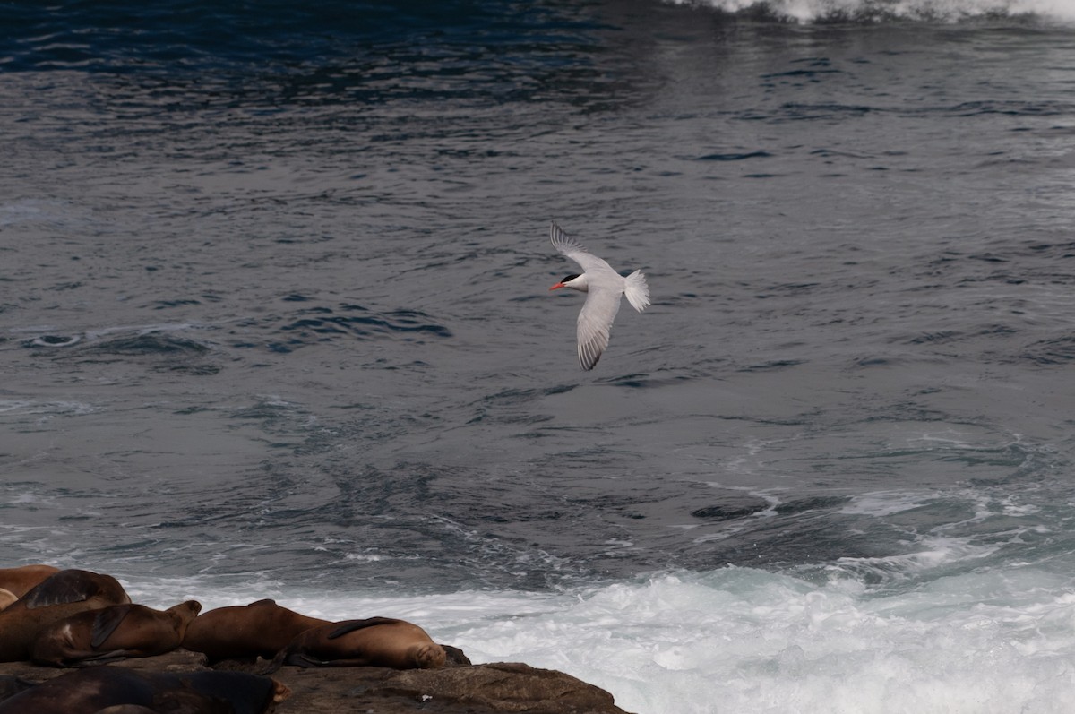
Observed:
[[[267,665],[264,660],[254,665],[226,660],[210,668],[204,655],[176,649],[96,667],[167,673],[211,669],[256,673]],[[31,662],[0,663],[0,674],[34,684],[70,671]],[[290,690],[268,710],[276,714],[627,714],[604,689],[563,672],[518,662],[449,665],[433,670],[285,666],[272,679]]]

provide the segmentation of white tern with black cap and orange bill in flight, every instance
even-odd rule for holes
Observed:
[[[578,313],[578,363],[591,370],[608,346],[608,331],[619,312],[619,296],[626,295],[631,306],[642,312],[649,305],[646,276],[636,270],[624,277],[607,262],[597,257],[553,224],[549,238],[557,251],[583,268],[580,275],[568,275],[548,288],[570,287],[586,292],[586,304]]]

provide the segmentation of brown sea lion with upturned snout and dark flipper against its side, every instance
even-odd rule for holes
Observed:
[[[110,605],[82,612],[38,630],[30,659],[38,665],[72,667],[125,657],[152,657],[183,642],[201,603],[187,600],[168,610],[145,605]]]

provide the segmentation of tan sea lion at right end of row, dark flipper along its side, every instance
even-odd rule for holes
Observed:
[[[390,617],[348,619],[302,632],[281,649],[262,674],[285,663],[299,667],[443,667],[444,647],[413,623]]]

